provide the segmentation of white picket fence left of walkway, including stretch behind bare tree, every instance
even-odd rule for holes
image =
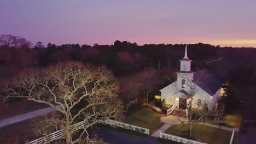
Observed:
[[[80,129],[80,128],[84,127],[84,125],[87,124],[87,123],[88,123],[88,121],[82,121],[82,122],[73,124],[70,127],[71,131],[75,131],[77,129]],[[106,121],[106,123],[108,123],[110,125],[117,126],[117,127],[129,129],[129,130],[134,130],[134,131],[137,131],[139,133],[149,135],[149,129],[138,127],[136,125],[122,123],[122,122],[114,121],[112,119],[108,119]],[[39,139],[30,141],[27,144],[46,144],[46,143],[49,143],[51,141],[59,140],[59,139],[62,139],[62,138],[63,138],[63,130],[61,129],[61,130],[55,131],[54,133],[51,133],[49,135],[40,137]]]

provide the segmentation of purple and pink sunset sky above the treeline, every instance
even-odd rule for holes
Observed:
[[[44,45],[210,43],[256,47],[256,1],[1,0],[0,34]]]

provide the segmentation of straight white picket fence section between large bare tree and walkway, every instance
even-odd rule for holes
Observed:
[[[110,125],[114,125],[114,126],[120,127],[120,128],[134,130],[134,131],[137,131],[139,133],[143,133],[143,134],[149,135],[149,129],[147,129],[147,128],[142,128],[142,127],[138,127],[136,125],[114,121],[112,119],[108,119],[107,123],[110,124]]]

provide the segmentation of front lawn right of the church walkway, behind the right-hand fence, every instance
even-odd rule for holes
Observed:
[[[187,137],[188,125],[172,125],[169,129],[165,131],[167,134],[177,135]],[[197,141],[207,142],[207,143],[229,143],[231,138],[231,131],[212,128],[206,125],[194,124],[192,129],[192,137],[195,137]],[[236,137],[234,137],[235,141]],[[233,142],[235,143],[235,142]]]

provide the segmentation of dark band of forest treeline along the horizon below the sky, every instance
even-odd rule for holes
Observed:
[[[4,38],[3,38],[4,36]],[[9,36],[9,37],[8,37]],[[15,39],[15,40],[10,40]],[[23,45],[15,44],[19,37],[0,35],[0,64],[45,67],[60,61],[82,61],[93,65],[106,65],[116,76],[128,75],[148,67],[179,68],[179,59],[184,57],[185,44],[137,45],[128,41],[115,41],[113,45],[47,44],[31,43],[22,39]],[[9,41],[8,43],[6,41]],[[207,59],[217,59],[229,55],[219,46],[210,44],[188,44],[188,56],[193,59],[193,70],[205,67]]]

